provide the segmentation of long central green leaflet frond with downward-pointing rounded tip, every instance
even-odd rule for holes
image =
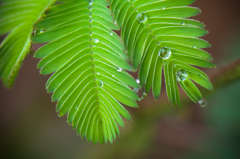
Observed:
[[[46,43],[35,57],[41,74],[53,75],[46,88],[57,102],[60,116],[81,137],[96,144],[110,142],[118,125],[131,120],[120,104],[138,107],[138,96],[129,88],[140,86],[124,70],[131,70],[105,0],[69,0],[46,11],[35,27],[45,30],[34,36]]]

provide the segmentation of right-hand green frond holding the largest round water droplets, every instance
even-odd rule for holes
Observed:
[[[164,68],[167,95],[180,106],[178,84],[194,101],[205,101],[193,83],[212,90],[207,75],[194,66],[215,67],[213,58],[203,48],[210,44],[199,37],[207,31],[198,21],[186,19],[200,13],[188,5],[195,0],[109,0],[111,10],[122,27],[121,35],[145,93],[151,87],[157,100]]]

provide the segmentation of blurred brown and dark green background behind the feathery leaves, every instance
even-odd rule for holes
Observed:
[[[209,30],[204,39],[218,66],[204,71],[216,80],[222,67],[240,58],[240,2],[197,0],[193,6],[202,10],[194,18]],[[66,117],[58,117],[45,91],[49,76],[38,74],[38,61],[28,55],[14,87],[0,85],[1,159],[240,158],[240,79],[205,94],[206,108],[184,94],[181,109],[168,103],[164,90],[158,101],[149,95],[139,109],[129,109],[133,122],[125,121],[113,145],[94,146],[76,135]]]

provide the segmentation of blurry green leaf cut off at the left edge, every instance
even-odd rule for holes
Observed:
[[[52,0],[3,0],[0,35],[9,32],[0,46],[0,79],[10,88],[31,46],[32,25]]]

